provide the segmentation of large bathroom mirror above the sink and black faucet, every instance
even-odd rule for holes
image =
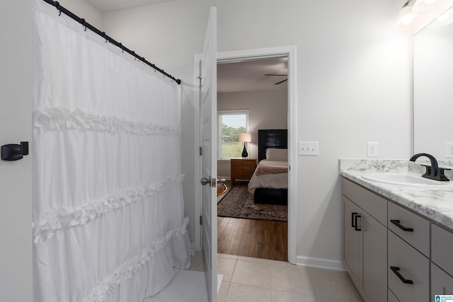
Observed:
[[[453,160],[453,8],[447,15],[413,36],[413,151],[440,160]]]

